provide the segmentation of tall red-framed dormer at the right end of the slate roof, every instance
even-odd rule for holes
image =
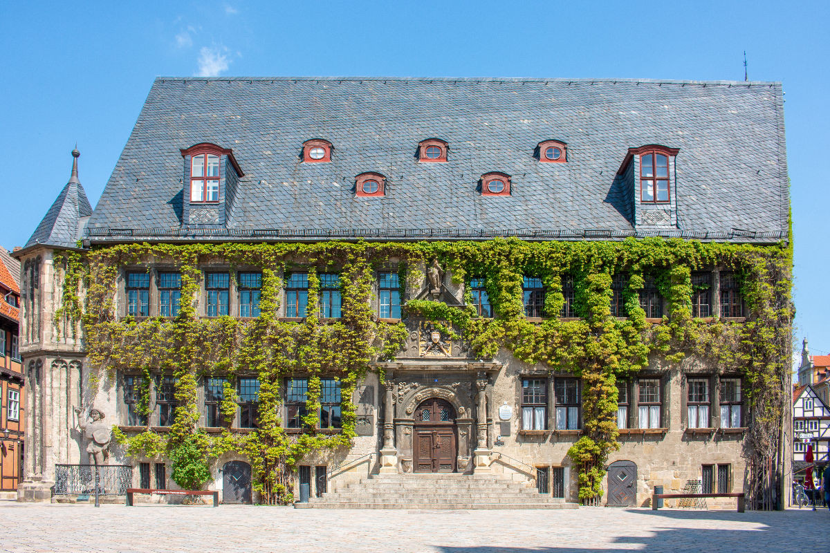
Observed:
[[[632,199],[637,230],[677,226],[676,157],[680,150],[660,144],[628,148],[617,172]]]

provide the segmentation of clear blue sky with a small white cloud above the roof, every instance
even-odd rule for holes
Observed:
[[[675,4],[677,4],[675,6]],[[830,353],[830,2],[0,2],[0,245],[32,234],[70,151],[100,196],[156,76],[779,80],[795,337]]]

